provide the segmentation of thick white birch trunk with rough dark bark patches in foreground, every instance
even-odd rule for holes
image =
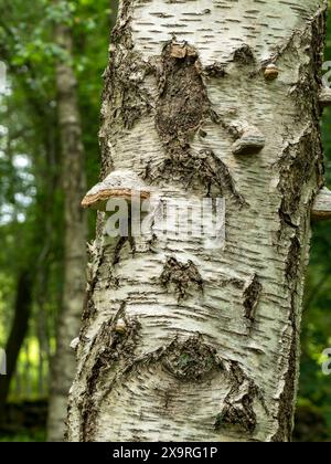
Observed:
[[[122,0],[103,177],[226,200],[226,241],[116,243],[99,213],[70,441],[289,441],[327,2]],[[196,204],[196,207],[194,207]],[[195,208],[195,209],[194,209]],[[120,323],[119,323],[120,320]],[[120,325],[120,330],[118,329]]]

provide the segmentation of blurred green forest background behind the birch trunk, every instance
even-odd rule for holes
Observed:
[[[0,376],[0,441],[46,439],[50,366],[65,285],[64,179],[71,176],[68,166],[70,172],[63,169],[55,70],[66,61],[77,78],[84,175],[93,186],[99,172],[102,75],[116,10],[117,0],[0,0],[0,62],[7,65],[7,86],[0,89],[0,347],[11,346],[14,367],[9,392],[8,377]],[[71,30],[70,55],[54,41],[56,23]],[[331,20],[324,60],[331,61]],[[321,125],[330,188],[330,108]],[[94,226],[89,212],[89,240]],[[328,442],[331,377],[321,371],[321,354],[331,347],[331,223],[313,225],[301,339],[295,439]]]

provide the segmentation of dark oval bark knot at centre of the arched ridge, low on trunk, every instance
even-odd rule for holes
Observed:
[[[171,344],[162,360],[163,367],[181,381],[205,380],[212,371],[223,369],[215,350],[194,336]]]

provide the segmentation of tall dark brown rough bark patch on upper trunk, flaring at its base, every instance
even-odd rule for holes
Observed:
[[[210,72],[223,74],[216,65]],[[157,172],[150,167],[149,180],[167,178],[184,182],[186,188],[202,183],[207,194],[212,186],[216,186],[222,194],[229,193],[243,205],[244,199],[236,191],[226,165],[212,150],[194,152],[191,148],[191,140],[197,133],[205,136],[201,130],[202,123],[207,117],[214,120],[203,73],[197,52],[192,46],[173,42],[164,46],[158,76],[156,127],[166,159]]]

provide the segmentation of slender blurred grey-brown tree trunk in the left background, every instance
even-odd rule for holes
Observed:
[[[58,126],[62,145],[63,189],[65,196],[65,278],[62,312],[57,325],[56,355],[52,366],[49,413],[49,441],[63,441],[67,394],[76,369],[71,341],[79,334],[86,285],[87,224],[81,208],[85,190],[84,148],[73,70],[72,31],[55,25],[54,40],[65,57],[56,65]]]

